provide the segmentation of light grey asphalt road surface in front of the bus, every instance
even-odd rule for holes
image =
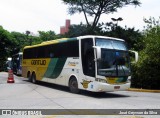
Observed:
[[[160,93],[117,91],[70,93],[67,87],[55,84],[32,84],[26,78],[14,76],[15,83],[7,83],[8,73],[0,72],[0,109],[160,109]],[[49,118],[74,117],[52,115]],[[83,115],[76,117],[91,116]],[[159,118],[159,115],[93,116],[114,118]]]

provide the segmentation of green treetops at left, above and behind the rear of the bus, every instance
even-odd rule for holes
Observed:
[[[53,31],[39,31],[39,36],[32,36],[30,31],[26,33],[8,32],[0,26],[0,71],[5,69],[5,62],[8,57],[23,51],[25,46],[35,45],[43,41],[54,40],[61,36],[56,35]]]

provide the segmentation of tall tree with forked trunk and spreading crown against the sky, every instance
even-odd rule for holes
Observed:
[[[88,26],[91,30],[97,26],[102,14],[110,14],[117,12],[119,8],[127,5],[139,6],[139,0],[63,0],[69,6],[68,12],[73,15],[75,13],[83,13]],[[90,24],[87,15],[94,17]]]

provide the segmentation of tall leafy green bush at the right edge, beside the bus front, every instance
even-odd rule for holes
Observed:
[[[145,19],[143,45],[139,62],[134,67],[133,87],[160,89],[160,24],[154,18]]]

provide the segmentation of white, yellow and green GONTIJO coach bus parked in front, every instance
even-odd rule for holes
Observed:
[[[24,47],[22,76],[68,86],[73,93],[123,91],[131,84],[129,50],[124,40],[104,36],[46,41]]]

